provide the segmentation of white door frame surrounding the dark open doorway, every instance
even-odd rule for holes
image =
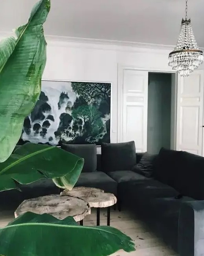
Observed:
[[[171,149],[176,149],[176,116],[177,116],[177,74],[173,71],[147,69],[131,65],[118,64],[118,142],[123,142],[123,70],[148,71],[154,73],[171,73]],[[174,81],[173,81],[174,80]],[[173,84],[174,83],[174,84]]]

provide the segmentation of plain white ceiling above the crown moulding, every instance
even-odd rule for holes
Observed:
[[[0,32],[27,21],[37,0],[1,0]],[[189,0],[189,17],[204,47],[204,0]],[[185,0],[51,0],[45,34],[175,45]]]

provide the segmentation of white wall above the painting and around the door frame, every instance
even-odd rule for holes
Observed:
[[[5,36],[0,36],[5,37]],[[167,58],[171,47],[138,43],[82,41],[46,37],[47,64],[44,79],[112,82],[111,142],[118,141],[118,66],[148,71],[171,71]]]

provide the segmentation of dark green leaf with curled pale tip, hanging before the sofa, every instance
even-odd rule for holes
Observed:
[[[84,159],[61,148],[26,143],[0,163],[0,191],[18,189],[42,178],[61,181],[62,188],[72,189],[81,174]],[[56,182],[55,182],[56,183]]]

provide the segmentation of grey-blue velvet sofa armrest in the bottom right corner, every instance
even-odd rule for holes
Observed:
[[[178,225],[180,256],[204,256],[204,200],[182,204]]]

